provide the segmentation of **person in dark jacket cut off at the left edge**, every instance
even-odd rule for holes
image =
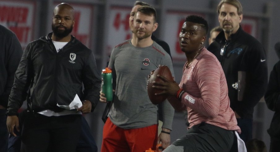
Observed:
[[[15,33],[0,25],[0,151],[7,151],[8,135],[6,108],[22,48]]]

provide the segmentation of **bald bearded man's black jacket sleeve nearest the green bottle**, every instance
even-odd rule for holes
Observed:
[[[101,73],[101,72],[100,72]],[[91,111],[99,101],[101,76],[97,70],[93,53],[91,52],[83,70],[84,100],[89,100],[92,105]]]

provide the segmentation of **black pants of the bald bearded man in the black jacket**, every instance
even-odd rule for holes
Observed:
[[[75,152],[81,132],[81,115],[47,117],[28,113],[21,134],[22,152]]]

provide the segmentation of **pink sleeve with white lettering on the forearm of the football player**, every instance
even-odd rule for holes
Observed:
[[[209,60],[210,59],[210,60]],[[200,97],[188,92],[182,96],[182,104],[208,118],[215,118],[220,111],[221,69],[214,58],[201,59],[193,70],[193,77],[200,91]]]

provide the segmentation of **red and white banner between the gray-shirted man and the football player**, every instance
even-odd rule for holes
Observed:
[[[197,15],[205,18],[205,15],[198,13],[168,11],[166,17],[168,20],[165,22],[164,27],[164,41],[169,44],[170,52],[173,61],[185,61],[185,53],[181,51],[179,46],[179,33],[186,17],[189,15]]]

